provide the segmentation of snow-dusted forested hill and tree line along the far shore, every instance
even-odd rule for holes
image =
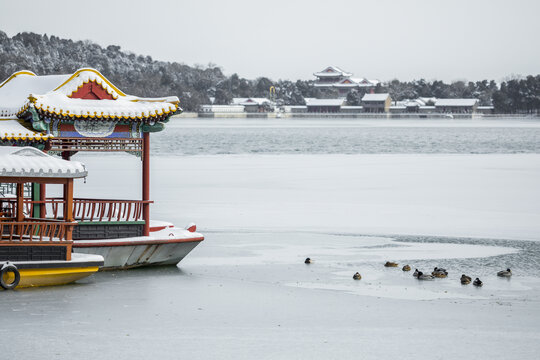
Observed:
[[[192,67],[156,61],[150,56],[122,51],[115,45],[103,48],[88,40],[73,41],[34,33],[20,33],[10,38],[0,31],[0,81],[19,70],[48,75],[69,74],[83,67],[99,70],[128,94],[176,95],[186,111],[196,111],[199,105],[208,104],[209,97],[214,97],[216,104],[228,104],[233,97],[268,97],[271,86],[275,87],[276,100],[282,105],[303,105],[306,97],[338,96],[333,90],[312,86],[310,81],[271,81],[265,77],[248,80],[237,74],[227,77],[215,65]],[[540,75],[508,80],[499,85],[493,80],[450,84],[438,80],[392,80],[375,91],[389,92],[393,100],[475,97],[481,105],[493,104],[498,112],[540,111]],[[362,96],[362,92],[353,91],[347,96],[347,102],[357,105]]]

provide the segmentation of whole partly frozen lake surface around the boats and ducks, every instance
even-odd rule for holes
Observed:
[[[206,240],[179,268],[0,293],[3,354],[536,359],[539,124],[176,121],[152,135],[152,217]],[[90,173],[76,195],[140,197],[137,158],[75,159]]]

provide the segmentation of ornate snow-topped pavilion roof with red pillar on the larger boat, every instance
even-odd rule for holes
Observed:
[[[142,200],[132,202],[143,208],[135,220],[144,220],[141,235],[148,235],[150,133],[179,110],[176,96],[128,95],[91,68],[44,76],[18,71],[0,83],[0,145],[31,145],[67,160],[79,151],[140,155]],[[39,194],[45,202],[44,187]]]

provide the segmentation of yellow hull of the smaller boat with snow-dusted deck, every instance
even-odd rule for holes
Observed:
[[[20,274],[18,288],[35,286],[65,285],[99,270],[103,265],[103,257],[94,254],[73,254],[70,261],[20,261],[11,262]],[[14,275],[4,275],[7,283],[12,283]]]

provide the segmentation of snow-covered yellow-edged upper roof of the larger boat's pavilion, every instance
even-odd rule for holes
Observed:
[[[94,82],[114,100],[71,98],[81,86]],[[98,105],[97,102],[100,104]],[[95,69],[74,74],[37,76],[20,71],[0,84],[0,117],[20,116],[30,106],[63,116],[144,118],[176,111],[176,96],[141,98],[124,94]]]

